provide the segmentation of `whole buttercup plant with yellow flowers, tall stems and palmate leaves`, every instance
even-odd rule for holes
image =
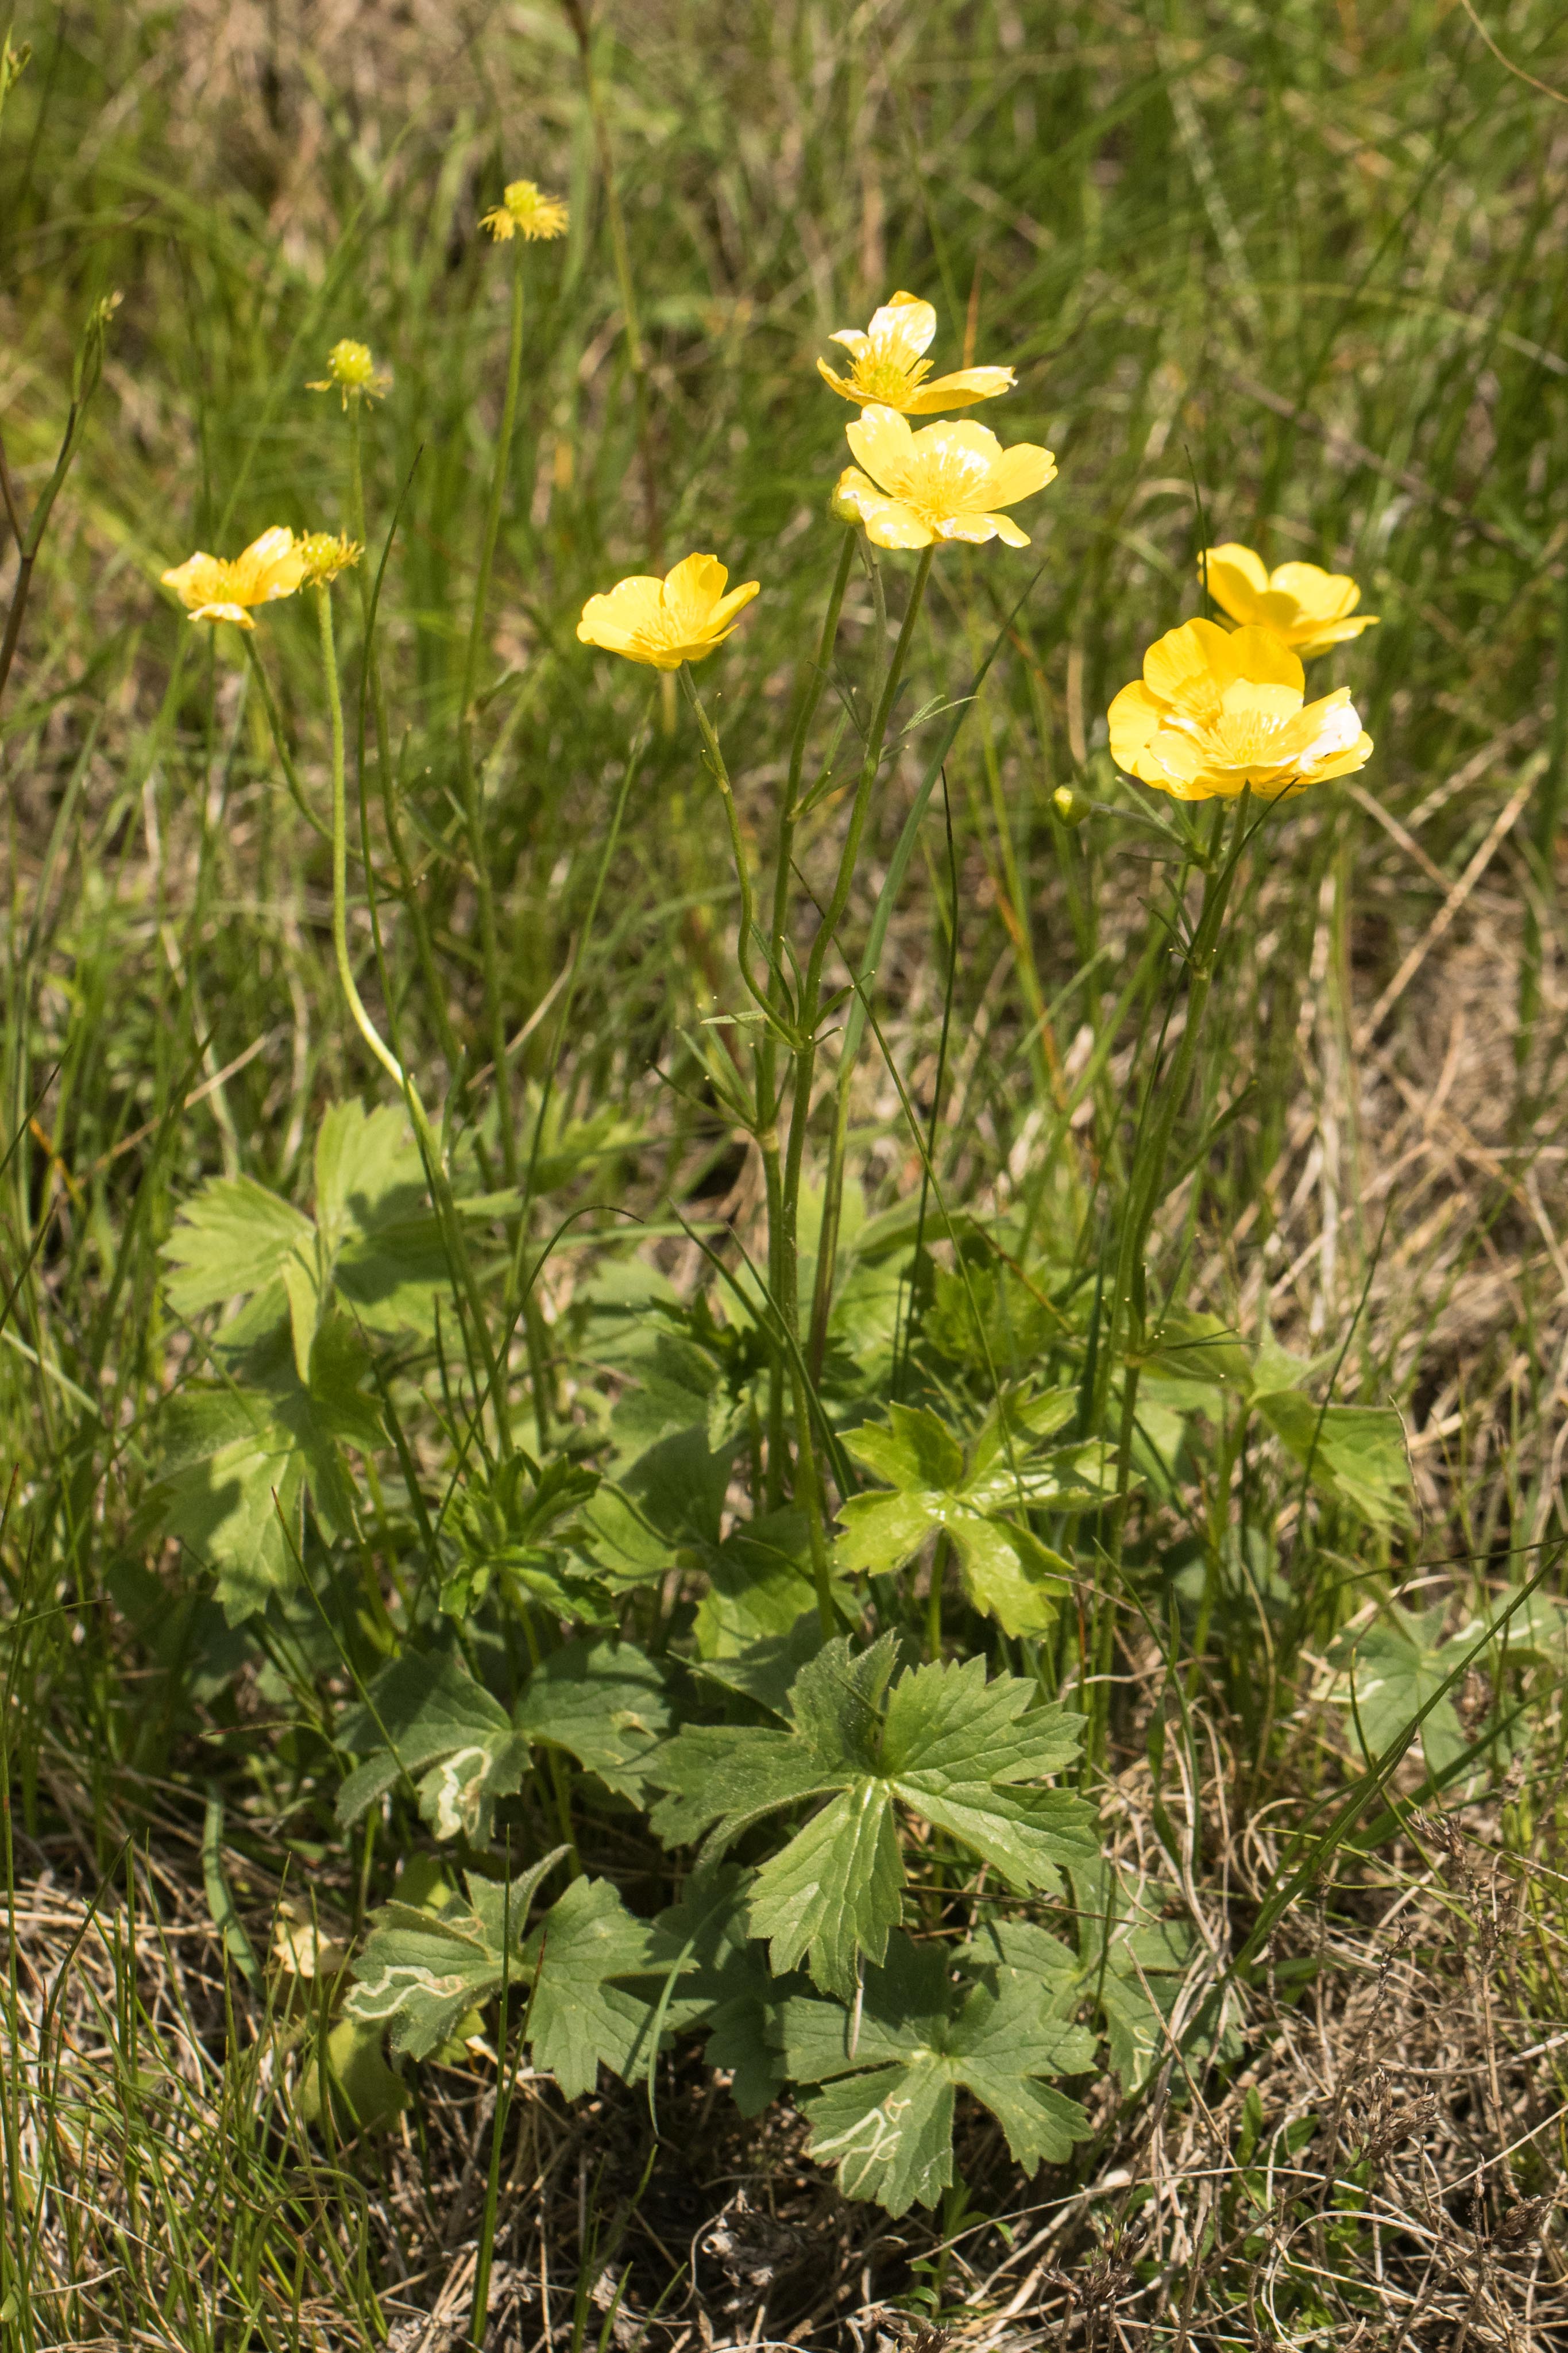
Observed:
[[[931,381],[924,351],[936,313],[929,304],[896,294],[865,334],[844,329],[837,341],[851,348],[853,372],[844,379],[823,367],[823,376],[860,409],[846,419],[856,464],[839,473],[827,501],[839,527],[837,560],[816,652],[797,687],[788,760],[780,762],[780,784],[771,788],[764,856],[736,800],[715,720],[719,704],[710,711],[696,680],[701,664],[731,647],[748,607],[762,595],[762,581],[731,586],[726,565],[698,551],[663,576],[635,572],[590,595],[576,624],[585,649],[658,673],[670,699],[679,685],[698,729],[703,767],[724,805],[738,892],[733,962],[743,1002],[703,1024],[691,1047],[710,1101],[755,1146],[766,1264],[748,1264],[733,1275],[733,1311],[722,1320],[710,1299],[691,1311],[670,1308],[686,1351],[679,1358],[682,1379],[701,1386],[703,1402],[693,1407],[698,1419],[691,1426],[665,1431],[658,1405],[654,1424],[661,1435],[651,1442],[646,1433],[632,1435],[632,1393],[607,1405],[602,1445],[585,1428],[562,1433],[529,1240],[536,1200],[548,1184],[548,1136],[555,1134],[548,1127],[550,1089],[545,1085],[536,1101],[529,1099],[531,1134],[520,1139],[477,727],[484,715],[491,569],[522,395],[524,254],[557,238],[567,214],[531,181],[512,181],[503,205],[480,226],[491,240],[512,245],[510,334],[473,602],[449,708],[456,734],[454,802],[473,878],[484,1028],[494,1047],[489,1071],[480,1073],[491,1089],[484,1148],[498,1146],[503,1188],[475,1193],[465,1172],[456,1139],[473,1120],[480,1082],[454,1085],[461,1071],[456,1045],[449,1052],[449,1101],[440,1113],[425,1108],[409,1056],[400,1049],[378,929],[386,1028],[364,1002],[355,972],[348,729],[334,621],[334,584],[350,569],[360,576],[364,638],[360,774],[374,720],[386,835],[397,868],[393,889],[414,925],[421,976],[428,988],[440,988],[430,925],[400,833],[374,605],[362,562],[362,412],[386,379],[376,374],[367,346],[339,339],[317,388],[339,388],[348,409],[346,529],[296,536],[277,527],[228,565],[195,555],[165,579],[193,619],[237,619],[247,631],[254,628],[254,607],[315,591],[331,774],[324,824],[301,786],[266,666],[249,635],[244,642],[289,788],[331,845],[336,976],[360,1040],[395,1087],[397,1108],[376,1113],[371,1122],[357,1106],[327,1113],[315,1160],[315,1221],[268,1195],[261,1195],[261,1207],[249,1193],[221,1186],[197,1195],[169,1245],[176,1264],[172,1299],[186,1313],[230,1299],[233,1221],[254,1217],[259,1231],[266,1221],[270,1240],[266,1247],[259,1242],[254,1264],[247,1261],[256,1297],[237,1322],[247,1334],[263,1329],[270,1301],[275,1339],[284,1327],[289,1334],[299,1395],[320,1395],[327,1414],[327,1435],[313,1435],[313,1452],[301,1445],[294,1485],[284,1482],[277,1492],[294,1499],[289,1508],[296,1513],[308,1492],[329,1541],[348,1541],[346,1532],[355,1537],[367,1584],[364,1614],[376,1628],[376,1661],[360,1678],[355,1706],[334,1734],[339,1753],[355,1760],[343,1779],[339,1821],[350,1828],[364,1819],[374,1842],[383,1814],[388,1821],[407,1819],[407,1805],[414,1805],[425,1833],[437,1845],[454,1845],[470,1864],[465,1892],[456,1892],[454,1878],[440,1908],[393,1901],[376,1913],[369,1941],[353,1962],[355,1986],[339,2031],[367,2035],[376,2049],[386,2033],[395,2057],[416,2061],[442,2052],[468,2012],[501,2000],[498,2049],[505,2049],[515,2017],[508,1995],[515,1984],[527,1984],[522,2035],[534,2066],[552,2071],[569,2097],[592,2089],[599,2066],[651,2082],[658,2052],[675,2031],[710,2031],[708,2054],[715,2066],[733,2071],[733,2097],[745,2113],[764,2106],[785,2082],[816,2087],[802,2097],[813,2153],[837,2165],[851,2195],[879,2198],[889,2212],[903,2212],[914,2200],[931,2202],[952,2184],[959,2087],[994,2111],[1023,2167],[1032,2169],[1044,2158],[1065,2160],[1088,2132],[1086,2111],[1048,2078],[1093,2064],[1088,2028],[1051,2007],[1070,1981],[1072,2002],[1098,2014],[1103,1995],[1091,1988],[1093,1972],[1084,1962],[1088,1974],[1079,1977],[1079,1962],[1065,1946],[1034,1922],[1011,1918],[1006,1897],[994,1913],[983,1913],[971,1901],[978,1887],[973,1873],[985,1866],[1016,1901],[1053,1904],[1067,1897],[1065,1873],[1103,1868],[1091,1807],[1060,1786],[1060,1774],[1095,1769],[1105,1758],[1103,1694],[1114,1671],[1124,1527],[1135,1487],[1140,1367],[1154,1329],[1145,1254],[1166,1191],[1175,1120],[1192,1087],[1204,1007],[1246,842],[1269,819],[1272,802],[1359,769],[1371,741],[1347,689],[1307,704],[1302,661],[1284,628],[1244,621],[1225,631],[1194,619],[1150,647],[1143,680],[1124,687],[1110,706],[1110,753],[1126,774],[1178,805],[1168,826],[1147,821],[1173,838],[1180,856],[1182,920],[1182,894],[1194,875],[1201,878],[1201,906],[1187,934],[1182,1035],[1171,1066],[1147,1075],[1107,1240],[1110,1280],[1103,1313],[1095,1311],[1093,1344],[1081,1351],[1072,1384],[1044,1386],[1025,1377],[1009,1386],[994,1377],[990,1337],[976,1313],[992,1374],[983,1409],[961,1377],[943,1386],[922,1353],[926,1292],[938,1280],[924,1235],[924,1195],[912,1249],[898,1261],[891,1351],[884,1341],[867,1348],[853,1322],[839,1337],[849,1101],[858,1054],[875,1024],[877,958],[914,828],[1011,626],[1009,616],[971,689],[947,704],[889,878],[865,936],[853,939],[851,908],[872,814],[889,781],[889,755],[922,725],[910,720],[900,732],[898,706],[917,654],[926,591],[938,562],[952,567],[945,586],[959,593],[964,567],[973,560],[969,551],[987,551],[978,560],[997,565],[1027,548],[1030,534],[1013,508],[1056,478],[1048,449],[1034,442],[1004,447],[971,419],[938,416],[919,431],[910,426],[910,416],[990,400],[1013,384],[1011,367],[961,369]],[[992,541],[1001,546],[992,548]],[[912,553],[914,562],[903,612],[889,628],[879,565],[884,553],[898,551]],[[1229,579],[1222,560],[1234,553],[1208,551],[1211,567],[1222,574],[1215,595]],[[867,572],[875,609],[870,675],[863,680],[853,678],[851,656],[839,647],[856,562]],[[1295,576],[1284,586],[1265,584],[1260,593],[1274,600],[1269,612],[1281,621],[1291,624],[1295,614],[1291,626],[1302,649],[1312,649],[1314,628],[1321,635],[1321,628],[1345,624],[1347,588],[1354,602],[1354,584],[1335,581],[1316,591]],[[1295,602],[1286,612],[1281,600],[1288,598]],[[1324,619],[1328,605],[1335,605],[1335,616]],[[729,659],[743,659],[743,652],[741,638]],[[813,776],[813,727],[830,685],[844,704],[842,732],[853,727],[853,751],[844,772],[835,769],[837,748],[830,751]],[[623,795],[632,769],[635,758],[625,767]],[[1215,802],[1204,833],[1182,807],[1197,800]],[[835,802],[842,831],[830,880],[825,889],[806,892],[802,835]],[[1063,838],[1095,814],[1077,788],[1060,788],[1053,807]],[[602,875],[616,826],[618,814]],[[374,913],[378,873],[364,791],[360,859]],[[835,984],[835,958],[849,986]],[[576,965],[567,981],[574,974]],[[564,1007],[562,1024],[571,1007],[569,991]],[[818,1061],[835,1028],[839,1059],[825,1101],[818,1101]],[[421,1273],[411,1273],[407,1205],[402,1219],[390,1209],[383,1217],[378,1207],[404,1181],[393,1174],[404,1169],[397,1158],[402,1146],[393,1139],[404,1118],[433,1205],[444,1297],[442,1273],[423,1261]],[[376,1120],[390,1127],[376,1127]],[[825,1125],[820,1193],[811,1146],[818,1120]],[[473,1155],[480,1165],[477,1144]],[[945,1219],[940,1172],[924,1139],[922,1169],[933,1221]],[[816,1231],[806,1224],[813,1198],[820,1198]],[[383,1224],[376,1224],[381,1217]],[[494,1282],[482,1275],[468,1242],[475,1221],[498,1226],[505,1238]],[[945,1231],[952,1233],[952,1226]],[[221,1238],[221,1247],[209,1249],[212,1238]],[[376,1261],[376,1278],[360,1275],[355,1292],[364,1254]],[[809,1257],[816,1261],[811,1273]],[[961,1254],[952,1282],[969,1282]],[[371,1553],[360,1541],[364,1532],[339,1452],[341,1435],[369,1452],[386,1438],[369,1414],[367,1391],[357,1386],[360,1372],[350,1381],[341,1369],[334,1374],[346,1362],[360,1365],[348,1355],[348,1318],[334,1306],[339,1292],[353,1304],[360,1327],[374,1320],[381,1301],[395,1299],[400,1315],[430,1332],[447,1424],[451,1431],[463,1426],[440,1506],[425,1501],[418,1464],[397,1433],[421,1565],[393,1602],[374,1565],[364,1567]],[[971,1308],[973,1294],[966,1297]],[[473,1384],[461,1412],[442,1348],[442,1313],[451,1311]],[[1067,1311],[1063,1322],[1070,1325]],[[364,1344],[360,1327],[355,1348]],[[515,1431],[512,1388],[522,1377],[512,1362],[517,1329],[527,1351],[536,1454],[522,1449]],[[839,1348],[837,1360],[830,1341]],[[233,1341],[230,1355],[240,1360],[240,1341]],[[846,1381],[849,1400],[835,1398],[830,1381]],[[912,1381],[919,1384],[914,1400],[907,1395]],[[390,1398],[381,1374],[378,1384],[378,1393]],[[289,1391],[287,1412],[294,1417],[301,1412],[299,1395]],[[273,1412],[282,1417],[284,1409]],[[280,1440],[284,1454],[287,1428],[292,1424]],[[602,1454],[604,1468],[588,1468],[590,1454]],[[649,1482],[651,1473],[642,1478],[654,1457],[661,1459],[658,1480],[668,1482],[668,1494],[658,1480]],[[266,1475],[277,1478],[277,1449],[263,1449],[261,1461]],[[858,1487],[858,1471],[875,1485]],[[748,1511],[731,1511],[736,1480]],[[376,1513],[381,1508],[376,1501]],[[729,1527],[724,1515],[731,1515]],[[1098,1529],[1088,1577],[1058,1548],[1067,1541],[1063,1529],[1079,1515],[1091,1515]],[[292,1525],[299,1532],[303,1522]],[[277,1548],[270,1558],[277,1560]],[[668,1588],[684,1595],[691,1560],[705,1562],[705,1586],[691,1607],[682,1598],[670,1609],[663,1595]],[[924,1598],[917,1595],[922,1562]],[[971,1645],[969,1657],[950,1657],[950,1565],[957,1569],[950,1609],[969,1612],[966,1626],[987,1626],[985,1645]],[[254,1586],[254,1562],[219,1562],[219,1593],[230,1614],[242,1614]],[[1048,1659],[1063,1600],[1074,1586],[1091,1624],[1093,1657],[1086,1666],[1093,1675],[1086,1675],[1079,1706],[1070,1711],[1048,1697],[1058,1687]],[[482,1633],[482,1642],[470,1642],[470,1631]],[[503,1654],[510,1661],[505,1704],[494,1664]],[[480,1673],[484,1659],[491,1666]],[[733,1685],[724,1682],[729,1673]],[[750,1711],[745,1722],[733,1715],[736,1694]],[[766,1725],[750,1720],[755,1715],[766,1715]],[[602,1786],[637,1807],[668,1849],[703,1840],[679,1901],[651,1922],[635,1918],[607,1878],[592,1875],[585,1828],[595,1805],[590,1791]],[[503,1817],[503,1809],[510,1814]],[[503,1819],[548,1828],[524,1868],[496,1882],[491,1871]],[[945,1929],[943,1939],[910,1934],[938,1922],[929,1911],[931,1889],[917,1889],[907,1873],[907,1819],[924,1824],[933,1842],[924,1861],[943,1875],[940,1904],[961,1929],[961,1944],[943,1941]],[[741,1835],[748,1838],[745,1864],[724,1861]],[[569,1878],[555,1901],[545,1901],[541,1889],[557,1868]],[[1095,1962],[1095,1972],[1098,1984],[1105,1969]],[[910,2024],[917,1995],[919,2028]],[[1138,1995],[1119,1991],[1117,2000],[1133,2005],[1152,2038],[1164,2012],[1147,1988]],[[860,2057],[860,2038],[867,2057]],[[926,2122],[905,2148],[898,2118],[910,2101],[924,2104]]]

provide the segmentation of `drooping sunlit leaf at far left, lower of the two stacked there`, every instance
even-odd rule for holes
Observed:
[[[299,1577],[306,1501],[346,1537],[355,1499],[343,1445],[378,1447],[381,1414],[360,1388],[364,1348],[329,1318],[299,1379],[287,1334],[249,1351],[226,1384],[190,1384],[165,1417],[162,1473],[143,1518],[209,1569],[228,1624],[266,1609]]]

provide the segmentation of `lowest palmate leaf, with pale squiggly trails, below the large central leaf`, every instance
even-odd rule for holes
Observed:
[[[1046,1988],[1023,1974],[954,1984],[945,1951],[900,1932],[858,2005],[795,1998],[780,2026],[788,2075],[823,2085],[802,2101],[811,2155],[889,2214],[950,2186],[959,2087],[997,2115],[1025,2172],[1088,2137],[1084,2108],[1039,2078],[1093,2066],[1093,2035],[1051,2017]]]

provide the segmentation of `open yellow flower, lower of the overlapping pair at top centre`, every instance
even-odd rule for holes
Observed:
[[[835,511],[853,508],[875,546],[1006,539],[1009,548],[1027,548],[1030,534],[997,508],[1046,487],[1056,475],[1048,449],[1034,442],[1004,449],[987,426],[964,416],[954,426],[912,433],[907,419],[886,407],[865,409],[846,431],[865,473],[844,468]]]

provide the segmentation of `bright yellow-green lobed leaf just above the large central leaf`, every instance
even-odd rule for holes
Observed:
[[[844,1501],[839,1565],[889,1574],[945,1529],[971,1602],[1004,1633],[1046,1633],[1070,1591],[1072,1565],[1032,1534],[1023,1513],[1088,1511],[1107,1494],[1105,1447],[1044,1449],[1074,1412],[1072,1391],[1006,1398],[969,1454],[929,1407],[893,1405],[886,1424],[849,1431],[846,1449],[893,1492]]]

